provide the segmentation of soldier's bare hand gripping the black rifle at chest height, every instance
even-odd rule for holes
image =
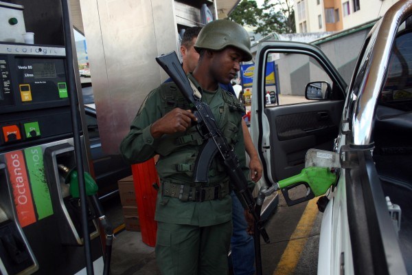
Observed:
[[[166,113],[163,118],[153,122],[150,133],[152,137],[157,138],[164,134],[184,132],[190,127],[192,120],[197,120],[192,111],[175,108]]]

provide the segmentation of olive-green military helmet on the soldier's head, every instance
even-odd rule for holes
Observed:
[[[243,61],[252,59],[249,34],[241,25],[233,21],[225,19],[211,21],[201,30],[194,44],[196,51],[198,49],[220,51],[227,46],[241,50],[244,53]]]

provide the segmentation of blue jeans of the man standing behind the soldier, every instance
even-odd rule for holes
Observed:
[[[255,273],[255,245],[253,236],[247,234],[247,222],[244,219],[243,206],[235,192],[232,197],[233,232],[230,240],[231,259],[234,275],[253,275]]]

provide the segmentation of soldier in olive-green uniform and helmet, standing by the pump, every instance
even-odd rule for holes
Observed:
[[[212,21],[194,45],[198,65],[188,77],[201,91],[216,122],[238,155],[244,175],[245,149],[240,113],[242,104],[219,83],[228,84],[251,60],[247,32],[237,23]],[[130,163],[159,154],[157,171],[161,188],[157,196],[157,264],[162,274],[227,274],[231,238],[232,186],[218,155],[211,161],[209,182],[194,184],[193,168],[203,138],[192,121],[196,117],[174,83],[150,92],[142,104],[120,151]],[[207,165],[207,164],[204,164]],[[253,181],[249,181],[253,188]],[[202,194],[204,196],[200,196]],[[248,221],[253,217],[244,212]]]

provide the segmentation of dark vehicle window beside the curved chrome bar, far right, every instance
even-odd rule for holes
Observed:
[[[380,175],[408,182],[412,153],[412,28],[398,32],[383,83],[374,126],[376,169]]]

